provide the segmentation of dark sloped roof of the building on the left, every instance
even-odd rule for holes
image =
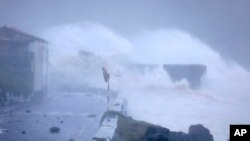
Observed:
[[[47,43],[46,40],[35,37],[13,27],[2,26],[0,27],[0,41],[41,41]]]

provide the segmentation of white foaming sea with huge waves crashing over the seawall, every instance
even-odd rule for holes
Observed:
[[[229,138],[230,124],[250,123],[249,72],[185,31],[157,29],[126,39],[103,25],[82,22],[48,28],[42,36],[49,41],[51,89],[106,88],[105,66],[111,89],[127,98],[135,119],[184,132],[203,124],[215,141]],[[80,51],[93,55],[82,57]],[[144,73],[126,69],[133,63],[203,64],[207,73],[201,88],[192,90],[185,79],[172,83],[161,67]]]

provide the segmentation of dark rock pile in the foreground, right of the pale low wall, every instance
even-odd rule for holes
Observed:
[[[184,133],[136,121],[121,114],[118,114],[118,117],[118,125],[112,141],[213,141],[210,131],[201,124],[191,125],[189,132]]]

